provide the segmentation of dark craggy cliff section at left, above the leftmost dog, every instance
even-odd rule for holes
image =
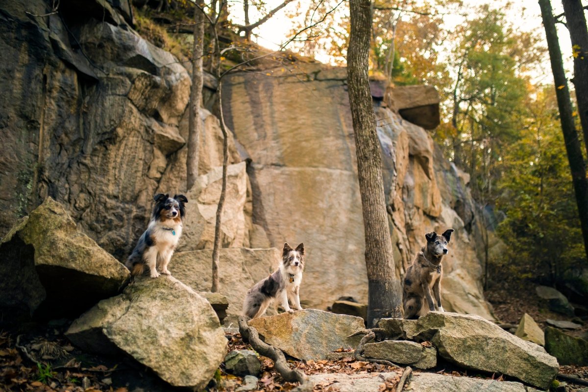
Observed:
[[[46,18],[25,13],[50,6],[2,5],[0,166],[10,169],[0,171],[0,236],[51,196],[123,261],[153,195],[186,190],[189,74],[133,31],[125,7],[89,0]],[[222,165],[222,134],[201,112],[199,166],[208,173]],[[232,138],[229,152],[229,163],[240,162]]]

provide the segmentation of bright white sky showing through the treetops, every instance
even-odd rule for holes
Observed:
[[[282,3],[283,0],[266,0],[266,9],[273,9],[275,6]],[[539,8],[539,2],[536,0],[512,0],[510,2],[506,0],[464,0],[463,1],[463,11],[467,13],[468,10],[475,8],[477,5],[488,3],[493,8],[501,8],[505,11],[507,18],[512,18],[510,21],[513,25],[520,28],[522,31],[534,31],[539,33],[542,37],[544,37],[544,30],[542,25],[541,19],[541,11]],[[507,3],[510,3],[510,6],[507,6]],[[236,2],[233,3],[232,9],[230,14],[232,18],[235,19],[235,22],[242,23],[242,3]],[[256,36],[253,36],[253,41],[259,43],[269,49],[278,49],[282,42],[285,42],[289,35],[290,31],[295,26],[295,21],[288,18],[287,13],[292,12],[296,9],[297,6],[300,9],[307,9],[309,7],[310,1],[309,0],[295,0],[292,1],[290,4],[286,5],[285,8],[281,9],[273,18],[269,19],[268,22],[261,25],[258,29],[253,31]],[[348,2],[343,2],[340,7],[348,8]],[[561,2],[559,0],[552,0],[552,6],[554,7],[554,14],[561,14],[563,12],[563,8]],[[255,8],[250,6],[250,13],[253,14],[255,12]],[[342,9],[342,12],[345,14],[348,12],[347,9]],[[255,22],[259,18],[258,15],[251,15],[250,21]],[[455,26],[462,23],[464,18],[463,16],[456,15],[456,14],[448,14],[444,16],[444,25],[445,28],[451,31]],[[566,61],[566,68],[570,71],[572,67],[572,44],[570,43],[570,37],[567,32],[567,29],[562,24],[557,24],[557,33],[559,36],[560,47],[562,49],[563,58]],[[545,44],[545,46],[547,46]],[[316,56],[318,61],[322,61],[328,63],[330,61],[329,56],[323,54]],[[535,81],[540,83],[550,83],[553,79],[550,73],[549,68],[549,59],[546,58],[542,66],[542,71],[539,72],[539,75],[536,76]]]

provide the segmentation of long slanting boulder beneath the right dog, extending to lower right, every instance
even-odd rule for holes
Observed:
[[[439,355],[459,366],[504,373],[548,388],[559,369],[543,347],[525,341],[479,316],[430,312],[418,320],[382,319],[391,335],[430,340]]]

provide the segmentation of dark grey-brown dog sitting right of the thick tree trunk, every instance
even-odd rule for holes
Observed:
[[[405,319],[417,319],[429,311],[443,311],[441,306],[441,277],[443,270],[441,260],[449,252],[447,244],[453,229],[447,229],[441,235],[435,232],[425,234],[427,244],[420,249],[415,261],[406,270],[402,306]],[[435,302],[431,296],[435,295]],[[424,300],[427,301],[425,306]]]

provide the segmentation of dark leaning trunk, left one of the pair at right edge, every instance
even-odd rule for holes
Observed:
[[[566,73],[563,69],[562,51],[559,48],[555,19],[553,18],[552,7],[549,0],[539,0],[543,26],[549,48],[549,58],[552,65],[553,80],[556,86],[557,106],[559,107],[560,122],[562,123],[563,139],[566,143],[567,160],[570,163],[572,182],[580,226],[584,237],[584,249],[588,256],[588,179],[586,178],[586,167],[582,156],[582,148],[578,140],[578,132],[574,125],[572,116],[572,103],[570,91],[567,88]]]

